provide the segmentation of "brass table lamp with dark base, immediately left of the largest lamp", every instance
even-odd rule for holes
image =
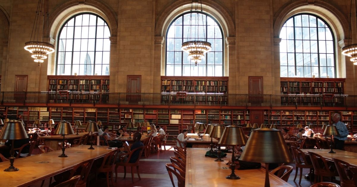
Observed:
[[[243,129],[237,125],[229,125],[226,126],[223,130],[222,137],[218,144],[224,145],[245,145],[247,143],[247,139],[244,135]],[[232,148],[233,149],[233,148]],[[231,175],[228,175],[227,179],[240,179],[240,177],[236,176],[234,170],[236,169],[234,150],[232,150],[232,163],[231,163]]]

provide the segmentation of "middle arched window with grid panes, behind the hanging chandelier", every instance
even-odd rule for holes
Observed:
[[[197,16],[197,14],[192,14],[192,21],[195,20],[194,16]],[[199,13],[198,16],[198,23],[192,22],[190,25],[190,13],[182,14],[176,17],[169,26],[166,33],[166,76],[223,76],[223,34],[221,27],[216,20],[204,13]],[[195,27],[199,27],[199,40],[206,39],[212,46],[212,50],[205,54],[205,58],[197,66],[195,66],[195,62],[190,61],[188,54],[181,50],[182,42],[191,40],[188,37],[189,28],[193,32]]]

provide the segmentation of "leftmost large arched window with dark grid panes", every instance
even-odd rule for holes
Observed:
[[[110,31],[95,14],[68,19],[58,36],[57,75],[109,75]]]

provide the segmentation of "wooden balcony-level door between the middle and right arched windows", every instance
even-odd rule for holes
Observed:
[[[248,77],[249,103],[261,105],[263,102],[263,77]]]

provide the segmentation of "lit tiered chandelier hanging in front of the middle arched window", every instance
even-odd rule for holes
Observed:
[[[181,50],[184,52],[188,53],[188,58],[190,58],[191,60],[193,60],[193,62],[195,62],[195,65],[197,66],[197,64],[199,62],[202,61],[202,58],[205,57],[205,53],[207,53],[208,51],[211,51],[211,43],[207,42],[207,41],[200,41],[198,38],[198,22],[199,22],[199,14],[198,12],[196,12],[196,16],[195,16],[195,24],[197,24],[195,26],[195,29],[192,30],[193,31],[193,38],[191,34],[191,27],[192,27],[192,13],[193,13],[193,6],[195,6],[195,11],[198,10],[198,3],[200,3],[201,5],[201,12],[202,11],[202,0],[200,0],[200,2],[198,2],[199,0],[192,0],[192,4],[191,4],[191,10],[190,10],[190,27],[188,27],[188,32],[187,32],[187,40],[191,40],[191,41],[187,41],[187,42],[183,42],[182,43],[182,47]],[[203,24],[203,14],[202,15],[202,25]],[[203,40],[206,40],[206,34],[205,34],[205,27],[203,26]],[[192,40],[193,39],[193,40]]]

